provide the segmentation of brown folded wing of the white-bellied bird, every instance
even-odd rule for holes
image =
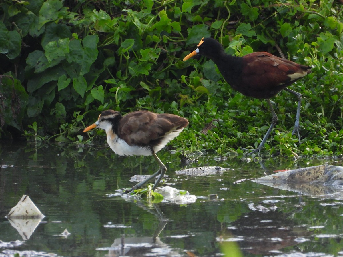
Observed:
[[[174,114],[135,111],[122,117],[118,131],[119,137],[128,145],[146,146],[187,124],[187,119]]]

